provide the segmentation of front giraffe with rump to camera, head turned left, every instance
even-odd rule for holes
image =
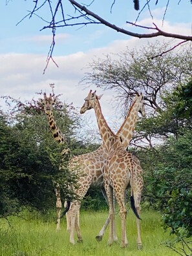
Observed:
[[[103,180],[105,191],[109,200],[109,215],[110,215],[110,231],[108,244],[111,245],[116,238],[114,237],[114,200],[113,191],[120,208],[120,217],[122,220],[122,240],[121,247],[125,248],[128,245],[126,235],[126,217],[127,209],[125,208],[125,189],[130,184],[131,186],[131,205],[133,206],[134,213],[136,214],[136,227],[137,227],[137,247],[142,248],[142,240],[140,237],[140,199],[143,188],[142,169],[136,168],[133,155],[125,150],[122,145],[120,134],[114,134],[110,127],[107,125],[105,118],[101,112],[100,100],[101,96],[96,96],[96,91],[90,91],[85,98],[85,103],[81,107],[80,113],[83,114],[87,110],[94,109],[96,120],[103,145],[107,150],[107,160],[103,166]],[[144,106],[144,97],[136,95],[136,100],[132,108],[127,114],[129,123],[135,123],[140,106]],[[134,111],[133,111],[134,109]],[[130,114],[131,113],[131,114]],[[145,111],[143,112],[145,116]],[[126,119],[127,119],[126,118]]]

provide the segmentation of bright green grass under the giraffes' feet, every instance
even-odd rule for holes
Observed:
[[[120,217],[116,216],[116,228],[119,242],[107,246],[109,229],[107,229],[102,242],[96,242],[101,226],[107,218],[104,213],[81,213],[81,231],[83,243],[72,246],[69,243],[69,234],[66,231],[66,220],[62,219],[61,231],[56,232],[54,220],[46,220],[36,213],[26,213],[25,218],[10,217],[8,221],[0,220],[0,255],[1,256],[171,256],[178,255],[162,245],[170,239],[160,226],[160,215],[156,212],[142,212],[142,242],[143,250],[136,249],[136,223],[135,217],[129,211],[127,218],[128,248],[120,248]],[[51,218],[49,218],[51,219]]]

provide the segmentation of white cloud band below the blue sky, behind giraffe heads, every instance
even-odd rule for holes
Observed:
[[[158,21],[158,20],[157,20]],[[155,21],[155,22],[157,22]],[[150,20],[151,22],[151,20]],[[142,25],[149,25],[149,19],[145,19],[141,23]],[[157,23],[158,25],[158,23]],[[171,32],[189,32],[186,26],[177,25],[174,27],[169,23],[164,23],[164,30]],[[41,37],[41,39],[47,39],[47,37]],[[61,39],[65,39],[65,34],[61,36]],[[162,37],[150,39],[150,41],[156,41],[156,39],[164,39]],[[96,56],[103,58],[103,54],[111,52],[120,52],[125,50],[126,47],[140,47],[144,45],[147,39],[131,38],[127,40],[116,40],[111,42],[110,45],[101,48],[92,48],[87,52],[76,52],[67,56],[56,56],[54,60],[58,64],[59,68],[50,62],[48,68],[43,75],[43,69],[46,65],[46,55],[43,54],[1,54],[0,55],[0,76],[1,76],[1,95],[10,95],[13,98],[21,98],[21,100],[31,100],[39,98],[35,93],[39,91],[50,92],[50,83],[55,83],[56,94],[63,94],[61,100],[65,100],[68,103],[73,102],[74,106],[81,107],[83,99],[87,96],[89,89],[93,88],[91,85],[86,90],[83,87],[78,86],[79,81],[83,78],[83,74],[86,71],[87,63],[91,62]],[[57,45],[56,45],[57,47]],[[112,109],[111,99],[114,92],[98,90],[98,94],[103,93],[101,98],[101,107],[103,114],[107,119],[107,122],[112,127],[114,116],[117,115],[116,110]],[[0,99],[0,105],[3,105],[4,101]],[[92,116],[92,120],[95,122],[94,112],[90,111],[88,116]],[[116,119],[119,119],[117,116]],[[112,122],[111,122],[112,120]]]

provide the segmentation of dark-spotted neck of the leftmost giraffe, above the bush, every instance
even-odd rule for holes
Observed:
[[[58,142],[59,144],[63,144],[65,142],[65,138],[63,136],[63,133],[61,133],[61,131],[59,130],[58,125],[56,125],[53,112],[45,111],[45,114],[47,115],[48,126],[50,128],[54,140],[56,140],[56,142]]]

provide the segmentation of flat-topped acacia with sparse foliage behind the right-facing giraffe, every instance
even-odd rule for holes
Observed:
[[[154,140],[166,139],[169,133],[176,135],[178,125],[184,123],[164,115],[167,109],[164,97],[191,78],[191,45],[167,52],[163,58],[151,58],[167,48],[167,43],[156,42],[140,50],[127,48],[119,54],[96,58],[89,63],[80,81],[81,85],[93,83],[98,88],[115,91],[116,101],[124,113],[135,92],[144,94],[147,118],[137,123],[131,145],[139,146],[141,140],[143,145],[152,145]]]

